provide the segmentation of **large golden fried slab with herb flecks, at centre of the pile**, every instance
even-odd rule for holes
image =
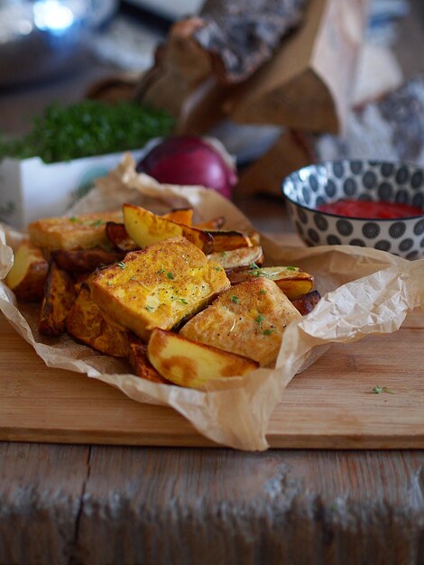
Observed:
[[[133,251],[90,281],[101,310],[144,340],[155,326],[174,328],[228,286],[224,269],[183,237]]]

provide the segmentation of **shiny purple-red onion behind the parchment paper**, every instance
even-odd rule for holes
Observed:
[[[235,162],[215,140],[186,135],[168,137],[137,164],[159,182],[202,185],[230,198],[237,181]]]

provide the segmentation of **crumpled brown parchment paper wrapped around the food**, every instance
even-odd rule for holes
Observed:
[[[196,208],[199,219],[224,215],[228,227],[253,229],[247,218],[217,192],[161,185],[137,174],[127,155],[69,214],[115,209],[124,202],[157,210],[189,204]],[[13,264],[12,247],[20,237],[6,227],[0,233],[2,278]],[[86,373],[140,403],[171,406],[201,434],[219,444],[235,449],[267,449],[265,434],[272,410],[294,375],[313,364],[331,343],[396,331],[410,310],[424,306],[422,259],[409,262],[383,251],[347,245],[285,247],[281,239],[279,243],[263,236],[266,263],[295,264],[313,273],[322,300],[308,316],[286,329],[275,368],[220,379],[206,391],[155,384],[128,374],[124,361],[98,354],[66,335],[55,339],[41,336],[37,330],[38,307],[20,305],[18,310],[13,292],[3,283],[0,308],[47,366]]]

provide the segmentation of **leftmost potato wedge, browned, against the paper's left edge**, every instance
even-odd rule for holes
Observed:
[[[14,254],[14,265],[7,273],[5,283],[14,291],[20,301],[40,301],[44,295],[44,285],[49,264],[41,250],[24,240]]]

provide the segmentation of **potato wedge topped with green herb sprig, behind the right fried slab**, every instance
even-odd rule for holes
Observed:
[[[235,269],[227,272],[232,284],[250,281],[255,278],[265,278],[274,281],[281,291],[290,299],[294,300],[302,294],[312,290],[314,277],[305,273],[298,267],[259,267],[253,264],[250,269]]]

